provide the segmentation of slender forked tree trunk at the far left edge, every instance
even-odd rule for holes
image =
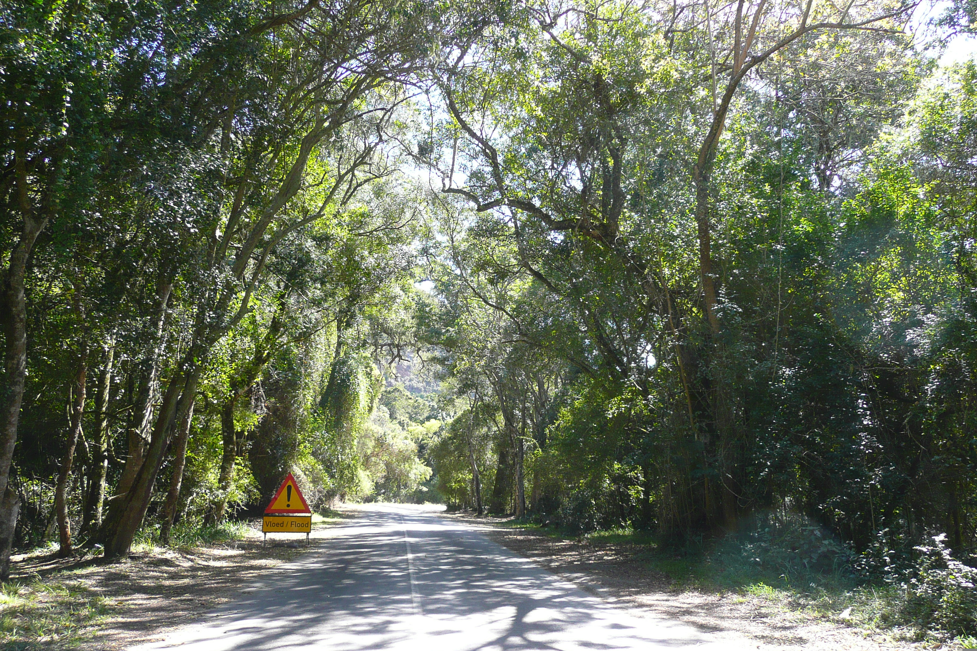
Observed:
[[[10,578],[10,552],[14,529],[21,510],[17,492],[10,487],[10,466],[17,446],[17,428],[21,420],[23,385],[27,376],[27,307],[23,296],[23,278],[27,259],[37,236],[48,218],[34,219],[30,208],[26,154],[19,149],[15,156],[18,196],[23,228],[21,238],[10,254],[10,264],[3,274],[0,289],[0,323],[5,335],[3,385],[0,386],[0,581]]]

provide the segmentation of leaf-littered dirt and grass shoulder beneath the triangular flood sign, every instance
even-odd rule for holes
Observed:
[[[137,549],[116,563],[15,556],[14,588],[0,597],[0,647],[121,651],[160,638],[233,600],[263,572],[320,549],[330,525],[356,512],[336,515],[313,525],[308,546],[304,537],[283,535],[263,545],[256,520],[243,540]]]

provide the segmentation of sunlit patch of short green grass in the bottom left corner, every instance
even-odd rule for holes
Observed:
[[[0,647],[11,651],[70,648],[110,613],[108,601],[64,575],[0,584]]]

